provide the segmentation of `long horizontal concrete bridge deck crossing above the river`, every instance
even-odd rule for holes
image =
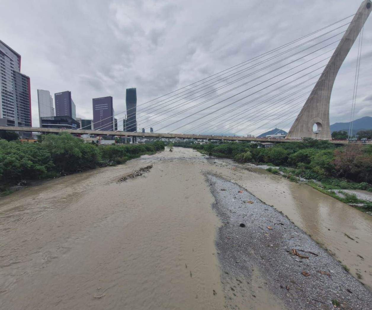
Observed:
[[[252,137],[237,137],[237,136],[212,136],[212,135],[189,135],[184,133],[157,133],[157,132],[125,132],[125,131],[105,131],[105,130],[86,130],[86,129],[55,129],[55,128],[40,128],[40,127],[16,127],[16,126],[0,126],[0,130],[23,131],[23,132],[46,132],[46,133],[75,133],[75,134],[90,134],[90,135],[115,135],[115,136],[135,136],[135,137],[152,137],[152,138],[180,138],[180,139],[208,139],[208,140],[223,140],[223,141],[257,141],[257,142],[302,142],[299,139],[270,139],[270,138],[252,138]],[[334,144],[347,144],[346,140],[331,140]],[[362,143],[358,141],[357,143]],[[372,144],[372,141],[367,141],[363,144]]]

